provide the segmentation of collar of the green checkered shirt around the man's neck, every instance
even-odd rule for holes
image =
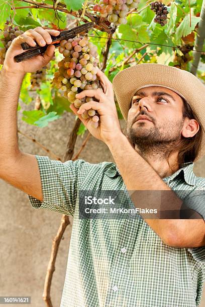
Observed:
[[[165,177],[163,179],[168,179],[168,183],[172,180],[174,180],[176,178],[176,176],[179,174],[179,173],[183,173],[184,175],[184,180],[185,182],[190,185],[190,186],[194,186],[195,185],[195,181],[196,181],[196,177],[193,173],[193,162],[186,162],[186,163],[183,163],[181,165],[181,168],[179,170],[177,170],[174,174],[172,174],[171,176],[168,176],[168,177]],[[106,172],[106,175],[108,177],[115,177],[115,176],[118,176],[118,175],[121,175],[120,173],[120,170],[118,169],[118,167],[113,164]]]

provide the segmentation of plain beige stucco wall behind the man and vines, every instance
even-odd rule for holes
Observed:
[[[61,119],[49,123],[49,127],[43,129],[27,125],[19,119],[20,130],[35,137],[61,159],[73,124],[74,116],[71,113],[64,113]],[[121,124],[123,127],[123,121]],[[85,136],[78,137],[75,152]],[[21,135],[19,144],[24,152],[47,156],[42,148]],[[88,140],[80,158],[91,163],[113,161],[108,147],[93,137]],[[205,159],[195,164],[194,172],[197,176],[205,177],[204,166]],[[2,180],[0,180],[0,208],[0,296],[31,296],[31,306],[44,307],[42,299],[44,278],[52,240],[57,233],[62,215],[48,210],[34,210],[25,193]],[[68,226],[59,247],[53,274],[51,286],[53,307],[60,306],[70,235],[71,226]],[[19,306],[24,305],[19,304]],[[200,306],[205,307],[205,293]]]

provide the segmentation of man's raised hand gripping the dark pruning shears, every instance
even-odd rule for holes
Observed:
[[[48,46],[43,56],[38,55],[32,59],[22,61],[20,63],[17,63],[14,60],[14,57],[24,52],[21,47],[22,43],[27,43],[28,45],[34,47],[36,46],[36,41],[39,46],[45,46],[46,44],[52,43],[51,35],[57,36],[59,34],[59,31],[44,30],[41,27],[26,31],[24,34],[18,36],[12,41],[12,44],[6,54],[3,69],[8,73],[24,75],[27,72],[35,72],[46,66],[53,57],[55,50],[55,46],[53,45]]]

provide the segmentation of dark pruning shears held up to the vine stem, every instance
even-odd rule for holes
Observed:
[[[89,23],[85,23],[83,25],[80,25],[78,27],[75,27],[71,30],[66,30],[66,31],[61,31],[60,34],[58,36],[52,36],[51,35],[51,39],[52,39],[52,45],[54,45],[55,47],[60,46],[60,41],[62,40],[68,40],[70,38],[74,38],[77,34],[82,33],[84,31],[87,31],[90,28],[93,28],[94,23],[93,22],[89,22]],[[15,60],[16,62],[22,62],[28,59],[31,59],[33,57],[36,57],[39,54],[44,54],[44,52],[46,51],[47,47],[49,45],[45,45],[45,46],[35,46],[35,47],[31,47],[29,46],[27,43],[22,43],[21,44],[22,49],[23,50],[27,50],[21,54],[18,54],[17,56],[15,56]]]

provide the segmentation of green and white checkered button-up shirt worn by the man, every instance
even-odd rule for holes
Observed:
[[[114,163],[91,164],[81,159],[62,163],[35,157],[43,202],[29,195],[31,205],[73,216],[60,307],[199,305],[205,247],[168,246],[140,215],[135,219],[79,219],[79,190],[126,190]],[[182,198],[184,191],[205,190],[205,178],[193,174],[193,163],[182,165],[163,181]],[[196,206],[205,218],[204,205],[196,202]]]

